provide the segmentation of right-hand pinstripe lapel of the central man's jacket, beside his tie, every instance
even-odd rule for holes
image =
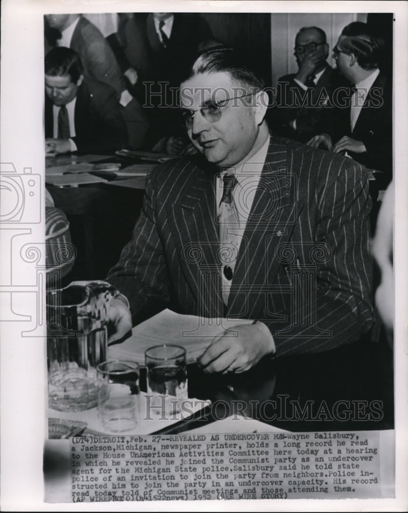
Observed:
[[[281,265],[275,250],[292,234],[296,208],[296,177],[288,170],[287,147],[272,140],[240,246],[228,316],[260,317],[265,286],[273,283]]]

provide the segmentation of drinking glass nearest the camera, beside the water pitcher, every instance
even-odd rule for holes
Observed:
[[[112,433],[132,431],[139,424],[139,365],[114,360],[96,367],[98,372],[98,415]]]

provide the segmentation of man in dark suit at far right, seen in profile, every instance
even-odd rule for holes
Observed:
[[[354,88],[339,91],[325,130],[308,142],[346,153],[371,169],[383,171],[382,188],[392,179],[392,87],[378,69],[383,40],[365,23],[347,25],[333,49],[337,67]]]

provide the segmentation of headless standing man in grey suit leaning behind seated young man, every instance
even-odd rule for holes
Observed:
[[[148,128],[146,116],[138,101],[127,90],[115,55],[103,34],[82,14],[46,14],[46,48],[64,46],[79,53],[84,75],[110,85],[121,105],[126,124],[127,145],[143,145]]]

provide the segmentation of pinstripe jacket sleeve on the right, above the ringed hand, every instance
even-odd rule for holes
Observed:
[[[329,170],[327,181],[316,190],[316,278],[298,281],[290,305],[274,312],[286,323],[265,322],[277,357],[357,341],[374,322],[367,175],[358,163],[340,158],[339,172]]]

